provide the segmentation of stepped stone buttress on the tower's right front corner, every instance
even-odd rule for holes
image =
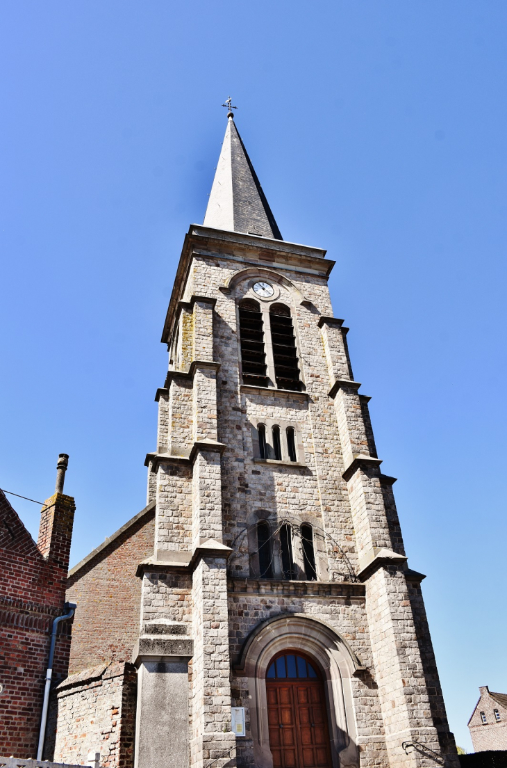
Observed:
[[[430,766],[440,756],[440,743],[404,573],[407,558],[399,531],[392,535],[393,512],[388,514],[384,501],[393,478],[380,472],[364,419],[367,399],[351,380],[343,329],[328,319],[322,328],[390,766]]]

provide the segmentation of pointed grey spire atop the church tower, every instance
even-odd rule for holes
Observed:
[[[283,240],[229,112],[204,226]]]

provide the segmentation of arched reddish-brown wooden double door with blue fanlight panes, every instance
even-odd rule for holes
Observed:
[[[284,650],[266,672],[273,768],[332,768],[324,682],[306,654]]]

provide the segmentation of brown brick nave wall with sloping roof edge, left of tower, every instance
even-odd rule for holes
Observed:
[[[133,518],[69,574],[67,600],[77,603],[69,671],[130,661],[139,637],[138,564],[153,555],[155,510]]]

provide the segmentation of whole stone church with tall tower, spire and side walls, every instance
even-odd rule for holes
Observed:
[[[54,760],[459,765],[333,266],[282,240],[229,113],[163,327],[147,507],[70,574]]]

